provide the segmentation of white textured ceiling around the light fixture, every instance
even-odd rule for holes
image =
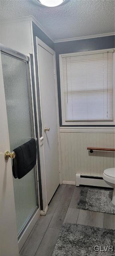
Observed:
[[[42,7],[31,0],[0,0],[0,19],[33,15],[56,39],[114,32],[114,0],[70,0],[62,6]]]

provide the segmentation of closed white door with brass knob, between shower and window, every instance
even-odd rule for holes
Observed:
[[[45,127],[50,128],[50,131],[43,131],[47,197],[49,203],[60,183],[56,90],[54,75],[55,52],[46,44],[44,44],[40,39],[36,38],[36,40],[43,128],[42,130],[44,130]]]

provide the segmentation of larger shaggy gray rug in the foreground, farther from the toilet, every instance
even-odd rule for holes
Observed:
[[[114,256],[114,237],[115,233],[112,229],[65,223],[59,233],[52,256]],[[113,248],[108,248],[107,245]],[[96,250],[99,247],[98,252],[94,250],[94,246],[97,246]],[[100,252],[100,246],[103,252]]]

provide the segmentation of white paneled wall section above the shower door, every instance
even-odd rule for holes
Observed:
[[[30,20],[1,24],[0,43],[23,54],[32,53]]]

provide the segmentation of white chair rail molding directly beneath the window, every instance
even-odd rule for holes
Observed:
[[[115,133],[115,127],[60,127],[60,132]]]

